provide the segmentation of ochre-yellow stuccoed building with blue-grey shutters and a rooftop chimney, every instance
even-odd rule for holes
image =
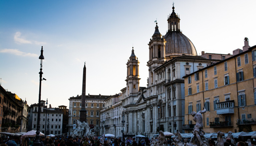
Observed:
[[[245,42],[246,42],[245,38]],[[248,41],[248,39],[247,39]],[[184,76],[186,133],[193,130],[192,111],[206,108],[204,131],[256,130],[256,45]]]

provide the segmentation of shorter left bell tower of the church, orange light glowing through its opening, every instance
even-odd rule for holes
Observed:
[[[126,77],[126,90],[128,95],[131,93],[139,92],[139,84],[140,84],[140,76],[139,76],[139,61],[138,58],[134,54],[134,50],[132,47],[132,54],[127,62],[127,77]]]

